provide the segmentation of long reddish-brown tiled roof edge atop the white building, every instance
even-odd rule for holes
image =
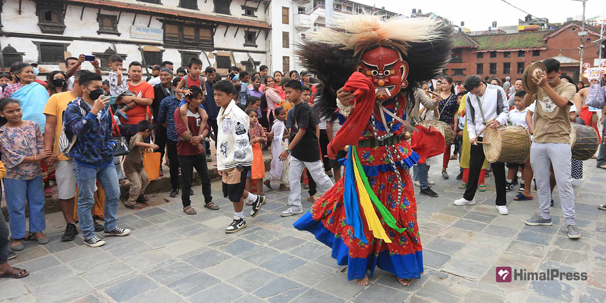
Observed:
[[[40,0],[35,0],[40,1]],[[44,0],[48,2],[49,0]],[[258,0],[260,2],[270,3],[270,0]],[[218,24],[228,24],[243,27],[254,27],[254,28],[271,28],[267,22],[248,20],[242,18],[228,17],[218,14],[208,14],[202,12],[190,12],[189,10],[176,10],[162,7],[161,5],[143,4],[142,2],[122,2],[122,1],[110,1],[110,0],[54,0],[53,2],[68,2],[77,5],[84,5],[88,7],[102,7],[106,9],[124,10],[136,13],[144,13],[147,15],[161,15],[167,18],[187,18],[196,19],[198,21],[205,21]]]

